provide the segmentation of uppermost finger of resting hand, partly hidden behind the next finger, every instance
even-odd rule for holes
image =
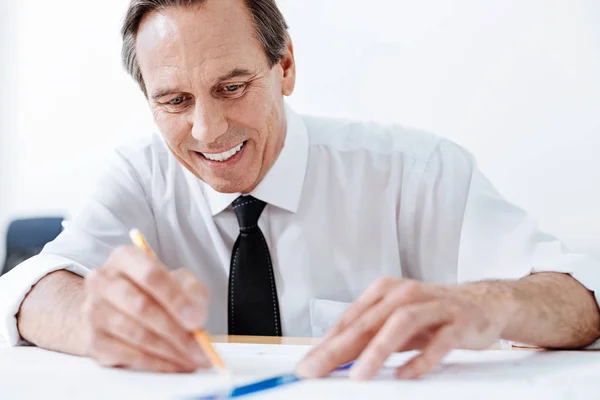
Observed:
[[[365,290],[364,293],[348,307],[341,318],[327,331],[323,340],[328,340],[339,334],[366,310],[381,301],[390,289],[397,287],[400,284],[401,280],[387,277],[375,281],[375,283],[370,285],[367,290]]]

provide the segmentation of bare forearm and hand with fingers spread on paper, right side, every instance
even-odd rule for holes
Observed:
[[[573,311],[584,305],[589,312]],[[382,278],[346,310],[297,372],[324,377],[356,360],[350,376],[370,379],[393,352],[420,350],[397,370],[399,378],[417,378],[455,348],[486,349],[499,339],[578,348],[599,333],[593,294],[567,274],[459,286]]]

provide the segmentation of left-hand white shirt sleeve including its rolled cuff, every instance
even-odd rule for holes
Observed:
[[[39,255],[0,277],[0,336],[10,345],[27,344],[19,335],[16,314],[33,285],[44,276],[60,269],[85,276],[102,265],[115,247],[129,244],[132,228],[155,242],[153,212],[140,172],[143,167],[134,167],[130,157],[120,151],[109,165],[63,232]]]

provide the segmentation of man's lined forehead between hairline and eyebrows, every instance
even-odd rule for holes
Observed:
[[[243,0],[208,0],[146,15],[136,54],[147,84],[190,73],[211,78],[232,68],[267,63]]]

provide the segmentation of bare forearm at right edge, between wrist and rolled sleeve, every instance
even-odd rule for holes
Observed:
[[[600,311],[594,295],[570,275],[537,273],[506,285],[514,313],[503,339],[574,349],[600,337]]]

